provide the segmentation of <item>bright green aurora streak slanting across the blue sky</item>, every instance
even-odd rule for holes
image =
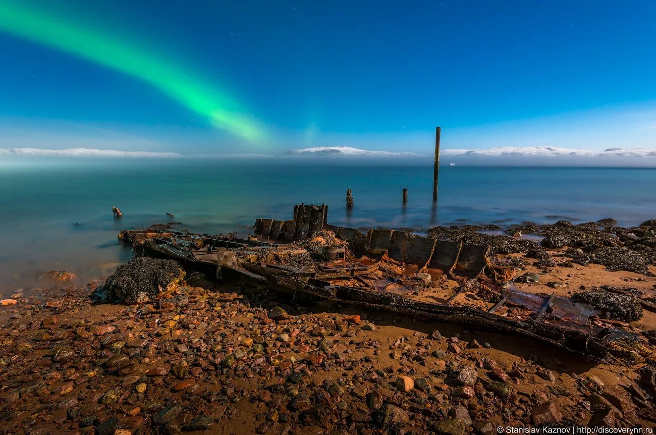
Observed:
[[[138,48],[137,44],[131,46],[73,22],[5,1],[0,1],[0,31],[141,79],[192,112],[206,117],[215,127],[249,142],[261,142],[264,136],[260,125],[248,115],[240,114],[237,104],[226,93],[193,77],[178,64]]]

